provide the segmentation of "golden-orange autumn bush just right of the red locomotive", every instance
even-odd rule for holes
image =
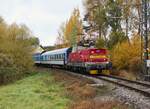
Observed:
[[[141,69],[140,36],[134,35],[130,41],[118,43],[111,51],[111,60],[117,70],[139,71]]]

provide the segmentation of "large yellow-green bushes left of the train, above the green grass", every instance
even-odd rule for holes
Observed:
[[[33,46],[38,43],[25,25],[8,25],[0,17],[0,84],[31,72]]]

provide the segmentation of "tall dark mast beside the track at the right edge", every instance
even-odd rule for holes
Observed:
[[[150,81],[150,74],[149,74],[149,67],[150,67],[150,60],[149,60],[149,49],[148,49],[148,41],[149,41],[149,28],[150,28],[150,3],[148,0],[142,0],[141,5],[141,13],[142,13],[142,21],[141,21],[141,37],[143,37],[144,41],[144,75],[145,80]]]

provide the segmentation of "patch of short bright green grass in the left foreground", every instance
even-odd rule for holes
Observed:
[[[65,109],[65,89],[49,73],[37,73],[0,87],[0,109]]]

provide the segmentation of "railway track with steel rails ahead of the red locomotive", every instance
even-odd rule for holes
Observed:
[[[150,83],[128,80],[111,75],[92,76],[92,77],[119,85],[121,87],[126,87],[130,90],[139,92],[145,95],[146,97],[150,97]]]

